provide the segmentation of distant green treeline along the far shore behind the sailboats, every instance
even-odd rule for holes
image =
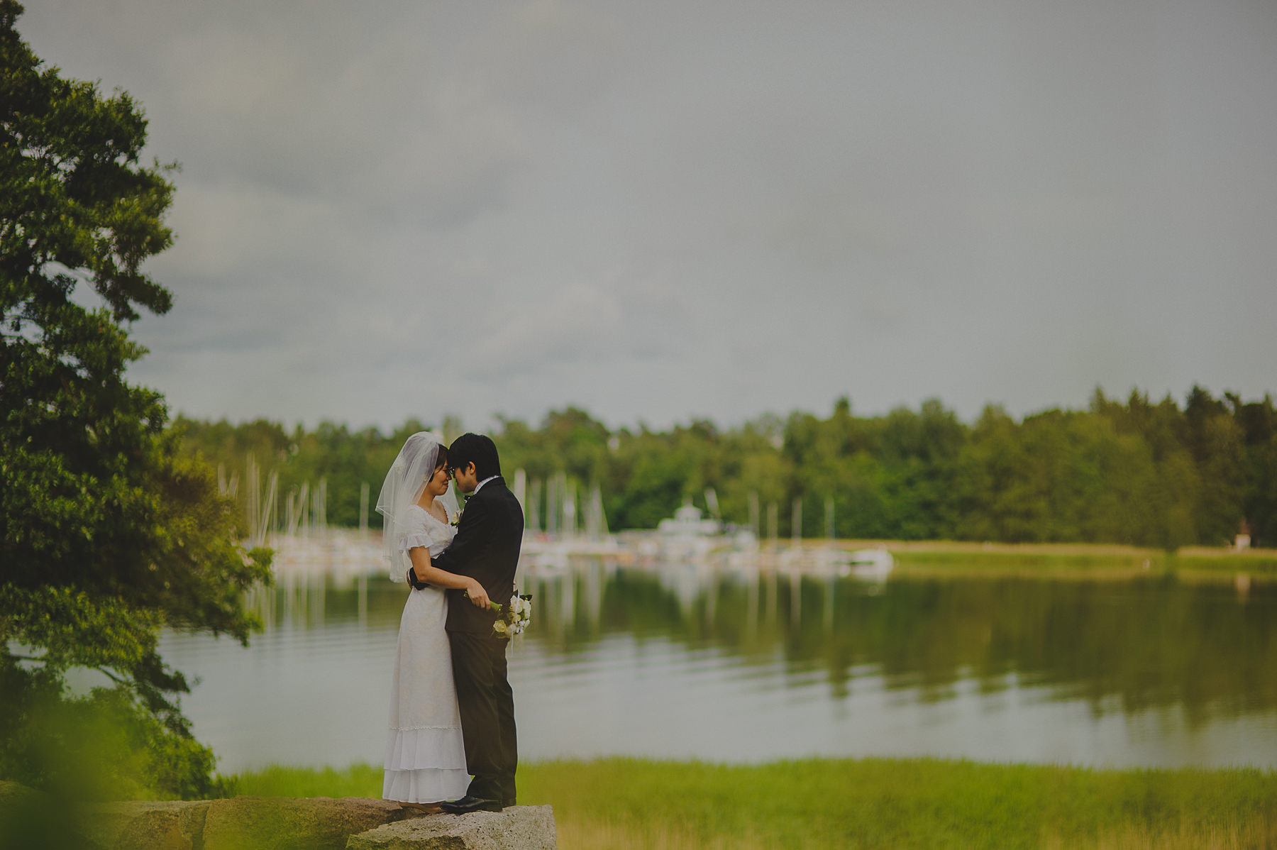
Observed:
[[[329,525],[356,526],[360,485],[375,502],[411,420],[393,433],[323,422],[313,431],[258,420],[241,425],[178,417],[185,445],[221,463],[227,479],[249,453],[280,476],[280,496],[327,480]],[[452,436],[456,422],[443,422]],[[722,516],[751,521],[774,511],[792,533],[826,532],[833,500],[839,537],[1124,542],[1174,549],[1222,545],[1246,523],[1255,545],[1277,545],[1277,408],[1194,387],[1180,406],[1096,391],[1084,411],[1047,410],[1016,420],[988,406],[974,424],[935,399],[914,411],[854,416],[840,399],[829,417],[794,412],[722,430],[692,421],[668,431],[609,430],[568,407],[539,426],[502,420],[492,434],[507,477],[566,472],[601,488],[613,530],[651,528],[684,498],[705,507],[714,488]],[[264,481],[263,481],[264,486]],[[239,499],[244,500],[240,486]],[[584,495],[584,493],[582,493]],[[584,499],[582,499],[584,500]],[[775,505],[773,509],[771,505]],[[379,518],[369,512],[369,525]]]

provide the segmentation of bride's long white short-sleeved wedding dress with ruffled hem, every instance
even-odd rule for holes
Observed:
[[[398,517],[400,551],[427,546],[430,556],[447,549],[457,530],[410,505]],[[406,560],[406,559],[405,559]],[[465,795],[470,785],[461,738],[452,651],[443,629],[448,601],[437,587],[414,590],[400,620],[398,655],[391,684],[389,738],[382,798],[438,803]]]

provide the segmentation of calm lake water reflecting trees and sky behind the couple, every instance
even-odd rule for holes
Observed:
[[[1277,587],[854,579],[584,564],[530,578],[524,758],[944,756],[1277,768]],[[222,771],[379,763],[406,591],[254,600],[249,648],[165,634]]]

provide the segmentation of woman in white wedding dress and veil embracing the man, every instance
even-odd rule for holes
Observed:
[[[439,810],[442,800],[464,796],[470,784],[452,655],[443,630],[448,616],[443,588],[466,590],[471,602],[488,605],[478,581],[430,565],[430,558],[457,533],[450,523],[457,502],[448,491],[447,459],[447,449],[433,434],[412,434],[377,498],[377,512],[383,517],[382,555],[389,562],[391,578],[405,581],[412,567],[430,585],[409,592],[400,620],[382,798],[432,813]]]

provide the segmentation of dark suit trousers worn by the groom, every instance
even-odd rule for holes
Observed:
[[[448,632],[452,678],[457,684],[466,767],[474,776],[471,796],[515,802],[518,743],[515,734],[515,692],[506,680],[510,641],[474,632]]]

